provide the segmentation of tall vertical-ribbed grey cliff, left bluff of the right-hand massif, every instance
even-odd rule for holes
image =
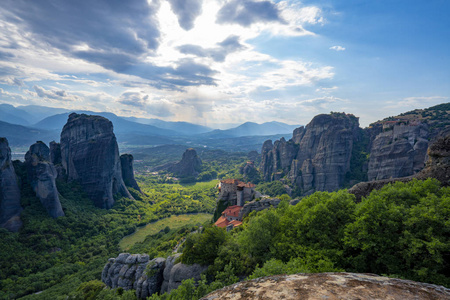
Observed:
[[[342,186],[350,170],[358,119],[333,113],[316,116],[305,128],[294,130],[290,141],[281,139],[262,147],[261,171],[266,181],[286,175],[303,193],[332,191]]]

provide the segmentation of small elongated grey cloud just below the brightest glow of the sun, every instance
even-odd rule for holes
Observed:
[[[217,43],[218,47],[215,48],[203,48],[197,45],[182,45],[178,47],[178,50],[184,54],[192,54],[198,57],[210,57],[214,61],[223,62],[226,56],[232,52],[244,49],[245,47],[239,43],[239,37],[231,35],[220,43]]]

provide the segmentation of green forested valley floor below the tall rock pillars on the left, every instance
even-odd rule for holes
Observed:
[[[26,176],[24,170],[16,169],[19,176]],[[141,185],[145,195],[131,189],[136,200],[116,199],[112,209],[104,210],[95,207],[77,184],[61,181],[57,184],[65,217],[50,218],[31,187],[24,185],[23,229],[19,233],[0,229],[0,299],[18,298],[49,288],[33,297],[56,299],[47,294],[52,291],[61,297],[68,295],[83,282],[100,278],[107,259],[119,253],[119,241],[137,226],[171,215],[212,213],[216,197],[216,182],[182,186],[159,184],[146,178]],[[179,241],[192,230],[189,227],[168,233]],[[148,242],[157,250],[156,245],[164,242],[158,241],[161,238],[154,235]],[[167,235],[163,239],[166,238]],[[154,255],[171,251],[167,245]]]

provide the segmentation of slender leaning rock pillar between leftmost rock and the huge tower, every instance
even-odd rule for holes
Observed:
[[[36,196],[52,218],[64,216],[55,179],[58,176],[50,162],[50,149],[43,142],[30,146],[25,154],[28,181]]]

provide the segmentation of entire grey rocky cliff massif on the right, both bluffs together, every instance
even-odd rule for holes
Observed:
[[[360,181],[410,176],[425,166],[431,142],[450,132],[450,104],[414,110],[359,128],[345,113],[318,115],[291,140],[266,141],[260,172],[299,195],[333,191]]]

